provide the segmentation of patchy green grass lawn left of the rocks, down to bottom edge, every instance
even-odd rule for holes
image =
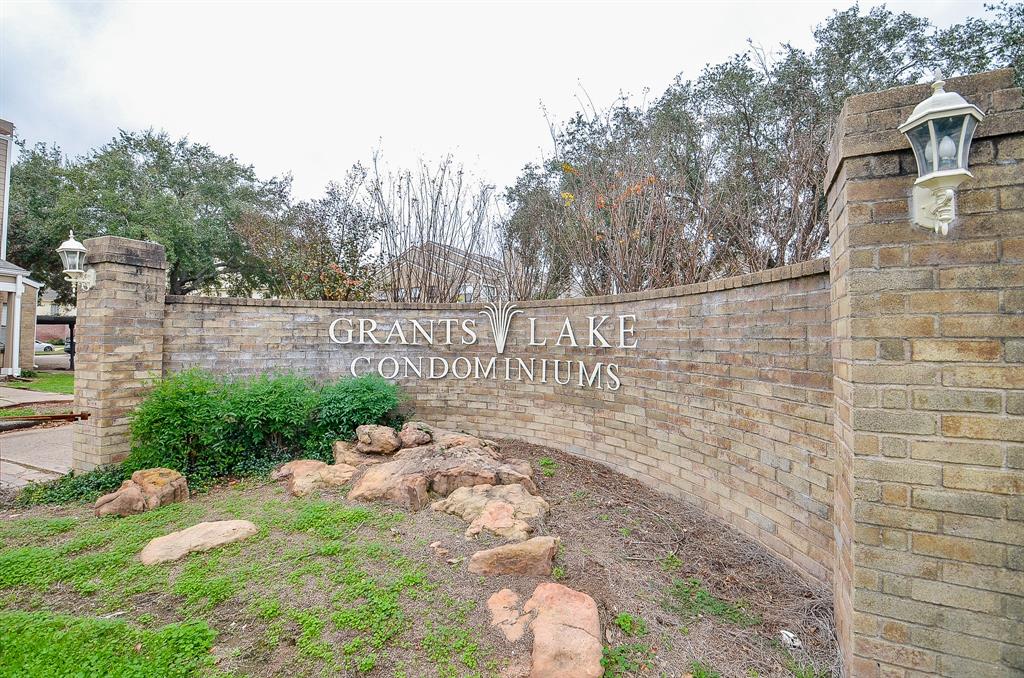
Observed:
[[[475,601],[442,596],[428,564],[396,545],[400,512],[272,493],[254,501],[261,483],[240,485],[124,518],[0,520],[0,675],[245,674],[282,651],[297,675],[497,672],[468,621]],[[177,563],[137,559],[154,537],[225,517],[260,532]],[[83,616],[38,611],[66,604]],[[97,619],[125,610],[125,621]],[[242,646],[214,671],[210,648],[236,621],[248,625]],[[403,667],[410,655],[418,668]]]

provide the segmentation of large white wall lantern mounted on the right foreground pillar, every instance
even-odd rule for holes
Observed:
[[[985,115],[956,92],[942,89],[941,78],[936,72],[932,95],[918,104],[899,131],[910,139],[918,161],[910,219],[945,236],[956,217],[955,188],[974,176],[967,169],[968,155],[974,130]]]

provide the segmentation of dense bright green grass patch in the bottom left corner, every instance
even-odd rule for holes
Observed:
[[[0,675],[185,678],[211,666],[214,636],[201,621],[151,631],[112,620],[0,611]]]

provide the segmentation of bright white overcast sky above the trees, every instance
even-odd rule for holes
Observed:
[[[503,187],[589,95],[656,96],[744,49],[812,44],[846,2],[0,0],[0,118],[71,155],[163,128],[319,195],[356,161],[453,152]],[[876,3],[864,2],[863,7]],[[983,2],[890,2],[947,26]]]

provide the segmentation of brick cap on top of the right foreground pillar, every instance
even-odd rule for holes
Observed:
[[[831,186],[843,161],[909,151],[910,142],[896,128],[913,108],[931,94],[931,84],[904,85],[881,92],[857,94],[843,104],[829,144],[825,188]],[[962,94],[985,114],[974,138],[1024,131],[1021,89],[1014,86],[1014,70],[998,69],[946,80],[946,90]]]

